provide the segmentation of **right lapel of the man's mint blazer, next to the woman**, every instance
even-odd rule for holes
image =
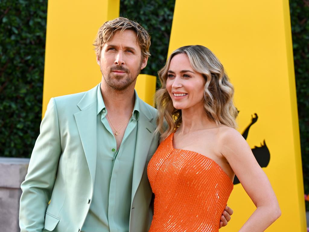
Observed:
[[[139,183],[142,179],[142,175],[145,169],[146,159],[151,142],[154,137],[155,126],[150,122],[152,120],[152,115],[149,110],[144,105],[145,103],[140,102],[141,114],[138,119],[138,131],[136,136],[136,148],[135,148],[135,158],[134,158],[134,168],[133,168],[133,181],[132,181],[132,199],[133,202],[134,195],[137,191]]]

